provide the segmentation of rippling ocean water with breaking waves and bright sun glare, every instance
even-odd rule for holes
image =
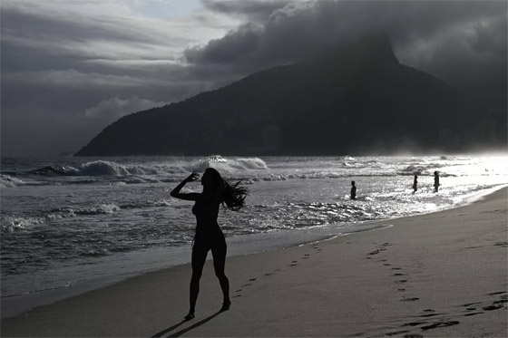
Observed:
[[[192,202],[171,198],[170,191],[209,166],[249,188],[246,208],[220,211],[229,255],[367,229],[369,220],[454,208],[508,184],[506,155],[2,159],[2,297],[189,262]],[[349,199],[351,180],[357,200]],[[201,186],[191,182],[184,189]]]

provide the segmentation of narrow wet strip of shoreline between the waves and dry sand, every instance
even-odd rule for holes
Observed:
[[[335,237],[342,237],[342,236],[348,236],[352,234],[362,233],[366,231],[377,231],[377,230],[383,230],[386,229],[386,226],[378,225],[376,224],[385,224],[390,223],[393,221],[396,221],[398,219],[404,219],[404,218],[410,218],[410,217],[421,217],[423,215],[433,215],[435,213],[445,212],[448,210],[453,210],[455,208],[464,208],[467,206],[470,206],[478,201],[481,201],[484,198],[488,198],[490,195],[494,194],[496,191],[501,190],[503,188],[507,188],[506,185],[501,185],[494,188],[489,188],[481,192],[474,193],[472,196],[464,198],[464,203],[454,206],[452,208],[446,208],[443,210],[438,211],[432,211],[430,213],[424,213],[424,214],[416,214],[412,216],[406,216],[406,217],[396,217],[396,218],[386,218],[386,219],[378,219],[378,220],[369,220],[366,222],[359,223],[359,227],[365,227],[369,226],[368,228],[357,228],[351,231],[347,231],[346,233],[336,233],[336,234],[328,234],[324,235],[321,233],[320,235],[315,235],[315,238],[308,239],[308,241],[302,241],[304,238],[301,237],[298,240],[293,240],[293,243],[282,245],[282,246],[266,246],[264,249],[259,248],[255,251],[247,250],[247,252],[235,252],[230,256],[230,247],[229,247],[229,256],[235,257],[235,256],[246,256],[246,255],[257,255],[260,253],[266,253],[266,252],[276,252],[278,250],[284,250],[292,247],[299,247],[299,246],[308,246],[315,243],[325,242],[327,240],[333,239]],[[358,226],[357,226],[358,227]],[[190,251],[185,249],[185,251]],[[187,255],[190,257],[190,255]],[[211,255],[207,257],[207,261],[211,260]],[[162,267],[162,268],[155,268],[155,269],[148,269],[142,272],[132,272],[127,273],[126,275],[112,275],[107,277],[102,277],[100,279],[92,279],[92,280],[85,280],[85,281],[77,281],[76,283],[73,283],[73,285],[70,286],[61,286],[54,289],[48,289],[48,290],[42,290],[42,291],[34,291],[28,294],[24,295],[8,295],[5,297],[0,298],[1,300],[1,319],[4,320],[6,318],[12,318],[15,316],[18,316],[20,314],[24,314],[26,312],[31,311],[34,308],[54,304],[60,301],[64,301],[66,299],[83,295],[85,293],[98,290],[104,287],[107,287],[109,285],[115,285],[117,283],[122,283],[125,281],[128,281],[129,279],[135,278],[137,276],[151,274],[160,270],[166,270],[175,268],[178,266],[188,266],[190,265],[189,261],[184,262],[177,262],[175,264],[172,264],[170,266]]]

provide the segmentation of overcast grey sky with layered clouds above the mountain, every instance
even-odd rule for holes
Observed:
[[[506,83],[506,1],[2,0],[2,156],[77,151],[125,114],[372,32],[400,63]]]

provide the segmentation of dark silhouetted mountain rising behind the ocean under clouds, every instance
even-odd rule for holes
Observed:
[[[122,117],[76,156],[339,155],[506,145],[505,111],[399,63],[369,36]]]

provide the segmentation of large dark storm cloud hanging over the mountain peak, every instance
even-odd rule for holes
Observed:
[[[245,1],[205,4],[247,16],[256,8]],[[317,1],[283,8],[277,4],[271,14],[254,11],[268,15],[265,24],[243,24],[223,38],[189,48],[187,60],[259,69],[298,61],[363,34],[384,32],[399,61],[452,82],[463,78],[458,65],[475,67],[474,79],[494,72],[505,76],[507,4],[503,1]]]

